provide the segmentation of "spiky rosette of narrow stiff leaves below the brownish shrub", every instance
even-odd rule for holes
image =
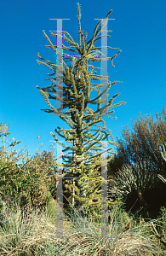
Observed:
[[[140,161],[135,166],[123,166],[117,172],[113,183],[108,183],[108,194],[112,197],[123,196],[126,210],[140,211],[145,216],[156,206],[160,184],[157,182],[157,172],[147,164],[146,160]],[[158,191],[158,193],[157,193]],[[153,203],[152,203],[153,201]]]

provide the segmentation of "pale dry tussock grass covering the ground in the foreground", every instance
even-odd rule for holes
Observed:
[[[100,218],[94,222],[73,209],[72,216],[64,215],[63,238],[57,238],[56,218],[48,209],[33,209],[28,214],[18,206],[6,209],[3,221],[9,224],[0,228],[0,255],[166,255],[151,223],[135,224],[119,205],[112,208],[106,237],[100,236]],[[125,229],[129,223],[132,227]]]

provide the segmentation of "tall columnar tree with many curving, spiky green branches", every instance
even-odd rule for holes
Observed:
[[[120,51],[116,55],[113,55],[112,57],[106,57],[106,58],[95,58],[94,54],[98,54],[100,51],[98,49],[104,48],[104,47],[95,47],[94,43],[99,40],[102,36],[98,35],[101,32],[101,29],[103,26],[106,25],[108,21],[108,16],[112,13],[112,10],[109,11],[109,13],[106,15],[106,22],[103,23],[100,26],[101,20],[97,23],[97,25],[94,28],[94,34],[93,37],[87,42],[87,32],[85,34],[85,37],[83,37],[83,32],[81,30],[81,24],[80,24],[80,19],[81,19],[81,12],[80,12],[80,7],[79,3],[77,6],[77,19],[78,19],[78,37],[79,37],[79,44],[75,43],[72,36],[68,32],[63,32],[63,36],[60,36],[58,33],[52,32],[51,35],[60,38],[64,38],[68,44],[70,44],[69,47],[66,47],[63,44],[62,49],[67,49],[71,50],[72,52],[78,53],[80,55],[80,58],[77,60],[77,58],[72,58],[70,55],[69,57],[72,60],[72,66],[67,67],[66,62],[63,62],[63,65],[58,66],[55,65],[51,61],[47,61],[43,59],[39,54],[37,56],[39,57],[40,61],[37,60],[38,64],[43,64],[46,67],[49,67],[49,69],[53,72],[52,74],[49,74],[51,78],[47,79],[52,82],[52,84],[49,87],[44,87],[44,88],[37,88],[40,90],[41,95],[43,96],[45,102],[48,104],[50,109],[41,109],[44,112],[47,113],[55,113],[60,116],[60,119],[63,119],[66,121],[66,123],[71,127],[71,129],[62,129],[60,127],[57,127],[54,131],[60,135],[60,137],[63,137],[66,142],[72,143],[72,147],[67,147],[63,143],[60,143],[57,139],[57,137],[54,135],[53,132],[51,134],[54,136],[54,140],[65,147],[66,149],[63,150],[63,152],[66,152],[68,150],[72,150],[72,156],[63,156],[63,166],[64,167],[70,167],[69,171],[66,172],[67,177],[77,177],[77,181],[74,183],[71,183],[71,180],[66,180],[66,188],[71,189],[71,197],[75,198],[78,204],[80,204],[80,201],[82,201],[84,204],[85,203],[91,203],[92,201],[92,195],[96,195],[97,190],[100,187],[99,182],[95,182],[94,179],[89,180],[89,186],[87,186],[87,178],[94,176],[94,175],[99,175],[100,173],[98,172],[100,168],[100,155],[99,150],[101,150],[97,144],[100,143],[100,141],[107,139],[108,143],[115,145],[115,141],[112,137],[111,131],[108,131],[106,129],[106,124],[105,121],[102,119],[102,116],[108,116],[109,113],[113,113],[114,110],[106,113],[106,110],[111,109],[113,107],[119,106],[121,104],[125,104],[125,102],[119,102],[117,104],[112,105],[112,102],[115,97],[119,95],[117,93],[115,96],[112,96],[109,102],[106,103],[106,106],[103,108],[100,108],[100,103],[101,102],[106,102],[105,98],[106,95],[102,101],[101,96],[106,93],[109,88],[113,85],[116,84],[119,81],[114,81],[114,82],[109,82],[107,77],[97,75],[97,72],[93,74],[93,71],[95,68],[99,67],[94,67],[93,65],[89,65],[89,63],[94,62],[94,61],[102,61],[102,60],[113,60],[117,55],[119,55]],[[100,28],[98,28],[100,26]],[[106,31],[105,31],[106,32]],[[108,31],[109,32],[109,31]],[[49,47],[51,49],[54,49],[54,52],[59,55],[57,51],[58,46],[54,46],[49,37],[46,35],[45,32],[43,32],[45,38],[47,38],[49,45],[46,45],[46,47]],[[68,38],[66,37],[68,36]],[[97,38],[98,37],[98,38]],[[110,36],[109,36],[110,37]],[[81,45],[81,39],[83,45]],[[107,46],[106,46],[107,47]],[[107,47],[109,49],[113,49],[112,47]],[[60,55],[59,55],[60,57]],[[61,61],[62,58],[60,58]],[[61,61],[62,63],[62,61]],[[113,63],[112,63],[113,66]],[[89,70],[89,67],[91,70]],[[114,66],[113,66],[114,67]],[[66,86],[58,84],[56,81],[62,77],[57,71],[62,73],[63,75],[63,83]],[[56,74],[56,76],[54,76]],[[106,79],[107,83],[104,84],[94,84],[91,83],[90,80],[100,80],[100,79]],[[60,90],[63,90],[63,98],[58,90],[55,89],[55,86],[58,86]],[[93,87],[94,85],[94,87]],[[106,86],[107,89],[100,94],[100,87],[101,86]],[[89,94],[92,90],[96,90],[98,93],[98,96],[94,98],[93,100],[89,99]],[[52,94],[53,95],[52,95]],[[55,109],[51,103],[49,102],[49,99],[51,100],[59,100],[62,102],[63,107]],[[88,104],[97,104],[97,110],[94,111],[91,108],[88,108]],[[61,113],[61,109],[65,109],[66,113]],[[87,113],[87,114],[85,114]],[[113,117],[112,117],[113,118]],[[102,122],[104,127],[97,125],[99,122]],[[97,127],[97,129],[92,129],[91,126],[94,125]],[[101,131],[103,129],[103,131]],[[95,131],[94,134],[92,134],[90,131]],[[60,134],[60,132],[63,132],[63,135]],[[102,134],[102,135],[101,135]],[[100,137],[101,135],[101,137]],[[112,137],[112,142],[109,140],[109,137]],[[97,152],[96,154],[90,152],[91,150],[94,150],[94,152]],[[107,149],[106,149],[107,150]],[[105,150],[105,151],[106,151]],[[112,148],[108,149],[108,153],[114,154],[110,152]],[[110,159],[112,158],[112,155]],[[67,159],[67,160],[66,160]],[[110,160],[109,159],[109,160]],[[90,164],[91,162],[91,164]],[[81,179],[81,177],[84,177],[85,179]],[[98,183],[98,186],[95,184]],[[76,193],[75,190],[77,191]],[[99,197],[99,195],[98,195]],[[76,201],[74,203],[76,204]]]

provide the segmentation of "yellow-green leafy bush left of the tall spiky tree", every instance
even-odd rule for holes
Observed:
[[[8,136],[7,136],[8,137]],[[9,143],[9,148],[14,148],[18,142]],[[29,209],[40,206],[45,207],[50,200],[49,180],[53,172],[54,160],[50,152],[42,155],[37,152],[34,157],[16,155],[3,147],[3,155],[0,158],[0,194],[3,202],[8,207],[15,207],[19,203],[21,208]],[[22,159],[22,164],[17,162]]]

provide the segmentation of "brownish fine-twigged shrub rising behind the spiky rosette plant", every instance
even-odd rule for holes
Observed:
[[[122,139],[117,139],[116,159],[123,162],[123,166],[135,166],[142,160],[146,160],[156,173],[163,172],[166,162],[163,161],[159,147],[166,138],[166,114],[165,109],[161,114],[156,113],[156,121],[149,114],[145,119],[140,115],[140,119],[133,121],[133,131],[129,128],[123,129]],[[122,165],[119,165],[122,167]],[[117,173],[117,166],[112,165],[112,172]]]

